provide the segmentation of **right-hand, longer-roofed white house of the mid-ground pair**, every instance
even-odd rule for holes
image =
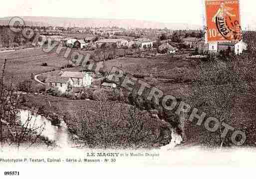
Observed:
[[[70,78],[70,85],[74,88],[88,87],[92,83],[90,73],[64,71],[60,72],[61,77]]]

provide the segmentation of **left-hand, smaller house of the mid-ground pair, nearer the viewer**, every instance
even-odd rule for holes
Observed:
[[[62,91],[66,91],[68,89],[68,84],[70,84],[70,82],[71,79],[68,77],[48,76],[45,80],[45,89],[60,88]]]

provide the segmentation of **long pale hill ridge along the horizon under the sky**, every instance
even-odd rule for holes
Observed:
[[[135,19],[103,19],[103,18],[69,18],[48,16],[20,16],[26,25],[63,26],[63,27],[112,27],[123,28],[169,28],[169,29],[200,29],[200,25],[183,23],[162,23]],[[0,18],[0,25],[7,25],[11,17]]]

